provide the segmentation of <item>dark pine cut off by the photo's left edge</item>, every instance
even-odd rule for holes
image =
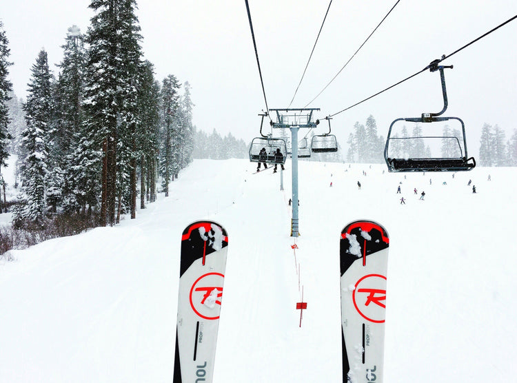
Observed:
[[[7,101],[11,99],[12,83],[8,80],[8,68],[12,63],[8,61],[10,49],[6,31],[3,30],[3,23],[0,21],[0,167],[7,166],[6,160],[9,157],[8,147],[10,138],[8,125],[10,122]]]

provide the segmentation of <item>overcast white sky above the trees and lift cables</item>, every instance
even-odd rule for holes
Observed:
[[[249,0],[270,108],[289,105],[327,10],[327,0]],[[292,107],[318,94],[363,43],[396,0],[334,0],[305,79]],[[41,48],[50,63],[62,59],[68,27],[90,25],[89,0],[0,0],[10,41],[10,80],[25,98],[30,68]],[[145,59],[161,81],[175,74],[192,86],[199,129],[249,142],[259,135],[265,109],[244,0],[138,2]],[[318,118],[334,114],[418,72],[517,14],[515,0],[402,0],[336,81],[310,105]],[[517,20],[444,61],[449,108],[463,118],[469,154],[476,154],[483,123],[507,138],[517,128]],[[56,68],[54,68],[54,72]],[[425,72],[332,120],[343,144],[369,114],[386,136],[398,117],[438,112],[439,74]],[[323,132],[323,127],[318,131]],[[303,133],[302,133],[303,134]]]

